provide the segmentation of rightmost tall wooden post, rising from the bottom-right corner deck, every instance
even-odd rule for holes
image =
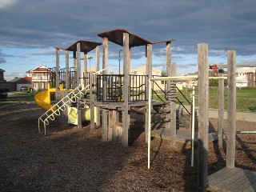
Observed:
[[[226,166],[234,167],[236,134],[236,52],[227,51],[228,67],[228,129],[226,144]]]

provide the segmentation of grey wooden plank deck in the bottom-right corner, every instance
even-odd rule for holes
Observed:
[[[218,170],[208,176],[207,191],[256,191],[256,172],[240,168]]]

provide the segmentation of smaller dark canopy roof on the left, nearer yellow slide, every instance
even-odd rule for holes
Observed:
[[[71,46],[67,47],[66,50],[76,51],[78,42],[80,42],[81,52],[85,52],[86,54],[91,50],[94,50],[96,46],[102,45],[101,42],[89,42],[85,40],[78,40],[77,42],[74,42]]]

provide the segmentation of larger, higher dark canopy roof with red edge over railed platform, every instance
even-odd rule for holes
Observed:
[[[109,30],[98,34],[101,38],[108,38],[110,42],[114,42],[119,46],[123,46],[123,33],[129,34],[129,46],[145,46],[147,44],[152,44],[152,42],[147,41],[144,38],[138,37],[136,34],[130,33],[128,30],[117,29],[117,30]]]

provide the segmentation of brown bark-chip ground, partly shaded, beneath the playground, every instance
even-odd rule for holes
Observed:
[[[1,191],[196,191],[197,169],[190,166],[190,143],[152,141],[147,170],[147,144],[141,121],[131,128],[129,147],[102,142],[102,129],[78,129],[65,119],[38,133],[43,110],[34,104],[0,112]],[[210,119],[215,128],[217,119]],[[225,122],[225,127],[226,127]],[[254,122],[237,122],[237,130],[256,130]],[[256,171],[256,134],[238,134],[236,166]],[[226,143],[209,143],[209,174],[226,166]],[[197,155],[197,154],[195,154]],[[195,156],[195,165],[197,156]]]

